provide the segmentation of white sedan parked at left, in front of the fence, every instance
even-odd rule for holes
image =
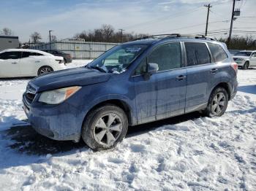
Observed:
[[[35,77],[66,69],[64,58],[29,49],[7,49],[0,52],[0,77]]]

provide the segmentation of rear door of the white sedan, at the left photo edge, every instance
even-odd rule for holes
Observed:
[[[19,77],[20,76],[20,57],[21,52],[9,51],[0,55],[0,77]]]

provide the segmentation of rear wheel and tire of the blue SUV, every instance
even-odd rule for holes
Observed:
[[[227,90],[223,87],[216,87],[208,100],[208,105],[204,110],[204,114],[208,117],[220,117],[225,113],[228,104]]]

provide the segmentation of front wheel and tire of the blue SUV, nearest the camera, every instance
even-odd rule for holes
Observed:
[[[128,119],[115,105],[101,106],[89,112],[83,123],[83,141],[94,150],[111,149],[127,134]]]

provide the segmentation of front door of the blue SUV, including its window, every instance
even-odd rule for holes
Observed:
[[[148,80],[143,75],[134,77],[138,121],[184,114],[187,71],[181,68],[180,42],[159,45],[148,55],[147,62],[157,63],[159,71]]]

